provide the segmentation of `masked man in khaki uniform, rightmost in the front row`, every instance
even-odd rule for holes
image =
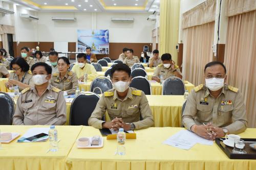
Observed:
[[[204,72],[206,84],[197,86],[188,95],[182,115],[183,125],[212,140],[245,131],[247,119],[243,96],[237,88],[224,85],[225,66],[213,61],[206,64]]]

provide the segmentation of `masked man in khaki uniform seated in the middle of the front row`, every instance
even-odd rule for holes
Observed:
[[[89,119],[89,125],[114,130],[134,130],[153,126],[152,111],[144,92],[129,87],[131,69],[125,64],[116,64],[111,68],[111,76],[114,89],[104,92],[101,96]],[[101,120],[106,111],[111,122]]]

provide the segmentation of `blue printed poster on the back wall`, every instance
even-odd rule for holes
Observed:
[[[77,51],[86,52],[87,47],[94,54],[109,54],[109,30],[77,30]]]

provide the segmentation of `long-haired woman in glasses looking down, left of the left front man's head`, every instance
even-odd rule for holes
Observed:
[[[19,91],[22,91],[23,89],[33,85],[29,64],[24,60],[24,58],[14,58],[10,65],[14,71],[10,74],[9,81],[5,83],[7,88],[19,86]]]

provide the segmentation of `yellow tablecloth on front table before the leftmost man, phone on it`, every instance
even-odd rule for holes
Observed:
[[[0,126],[1,132],[18,132],[22,136],[29,128],[49,126]],[[82,126],[56,126],[58,130],[58,152],[48,152],[49,140],[46,142],[2,143],[0,149],[0,169],[12,170],[54,170],[65,169],[66,158]],[[19,137],[20,137],[19,136]]]

